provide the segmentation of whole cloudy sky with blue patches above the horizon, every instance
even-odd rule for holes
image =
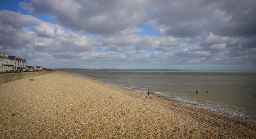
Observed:
[[[256,1],[0,0],[0,51],[47,68],[256,70]]]

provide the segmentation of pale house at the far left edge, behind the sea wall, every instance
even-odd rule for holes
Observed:
[[[0,72],[8,72],[13,70],[14,61],[8,58],[7,54],[0,52]]]

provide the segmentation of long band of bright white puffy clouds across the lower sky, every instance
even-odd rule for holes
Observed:
[[[0,14],[2,12],[7,11],[0,11]],[[137,35],[133,33],[141,30],[128,28],[120,34],[95,39],[36,18],[24,25],[27,27],[18,27],[15,23],[20,13],[12,16],[17,21],[0,24],[1,50],[24,57],[31,63],[256,63],[255,47],[245,45],[253,46],[253,38],[222,37],[210,32],[202,37],[181,39]],[[24,20],[28,20],[26,18]],[[109,50],[102,51],[101,45]]]

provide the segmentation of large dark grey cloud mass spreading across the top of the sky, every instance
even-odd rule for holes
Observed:
[[[50,14],[66,27],[108,34],[155,22],[165,35],[193,37],[202,32],[255,36],[255,0],[30,0],[21,8]]]

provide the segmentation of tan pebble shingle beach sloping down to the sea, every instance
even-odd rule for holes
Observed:
[[[0,137],[256,138],[255,124],[81,76],[34,79],[0,84]]]

